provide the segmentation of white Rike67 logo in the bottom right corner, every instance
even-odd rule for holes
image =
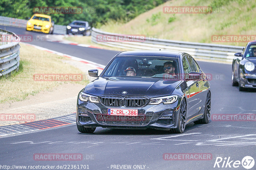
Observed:
[[[214,168],[238,168],[241,167],[241,165],[245,169],[251,169],[254,166],[255,162],[254,159],[251,156],[245,156],[242,161],[240,160],[232,160],[230,157],[225,157],[224,159],[222,157],[217,157],[214,163]]]

